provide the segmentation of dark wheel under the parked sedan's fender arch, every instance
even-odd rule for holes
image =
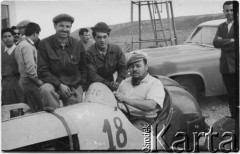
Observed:
[[[177,81],[183,87],[183,89],[188,91],[196,100],[198,100],[199,88],[194,80],[184,77],[178,77],[174,80]]]

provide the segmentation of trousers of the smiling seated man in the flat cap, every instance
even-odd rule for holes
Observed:
[[[50,83],[44,83],[40,87],[40,95],[44,108],[56,109],[60,107],[60,100],[62,101],[63,106],[82,102],[83,89],[82,86],[79,85],[78,88],[75,90],[75,95],[64,98],[59,91],[55,90],[53,85],[51,85]]]

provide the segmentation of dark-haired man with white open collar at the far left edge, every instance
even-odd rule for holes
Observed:
[[[15,59],[14,31],[2,29],[2,105],[20,103],[23,101],[22,90],[18,80],[18,65]]]

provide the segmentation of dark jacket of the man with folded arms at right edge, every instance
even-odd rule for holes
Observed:
[[[222,39],[217,39],[221,37]],[[234,23],[228,33],[228,24],[226,22],[218,26],[213,45],[216,48],[221,48],[220,57],[220,72],[234,73],[235,72],[235,51],[234,43],[230,43],[230,39],[234,38]],[[236,40],[235,40],[236,41]]]

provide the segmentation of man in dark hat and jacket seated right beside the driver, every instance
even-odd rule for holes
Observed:
[[[125,55],[118,45],[109,43],[111,29],[106,23],[99,22],[91,29],[95,44],[87,51],[89,80],[91,83],[101,82],[116,91],[127,76]],[[118,74],[116,81],[115,72]]]

